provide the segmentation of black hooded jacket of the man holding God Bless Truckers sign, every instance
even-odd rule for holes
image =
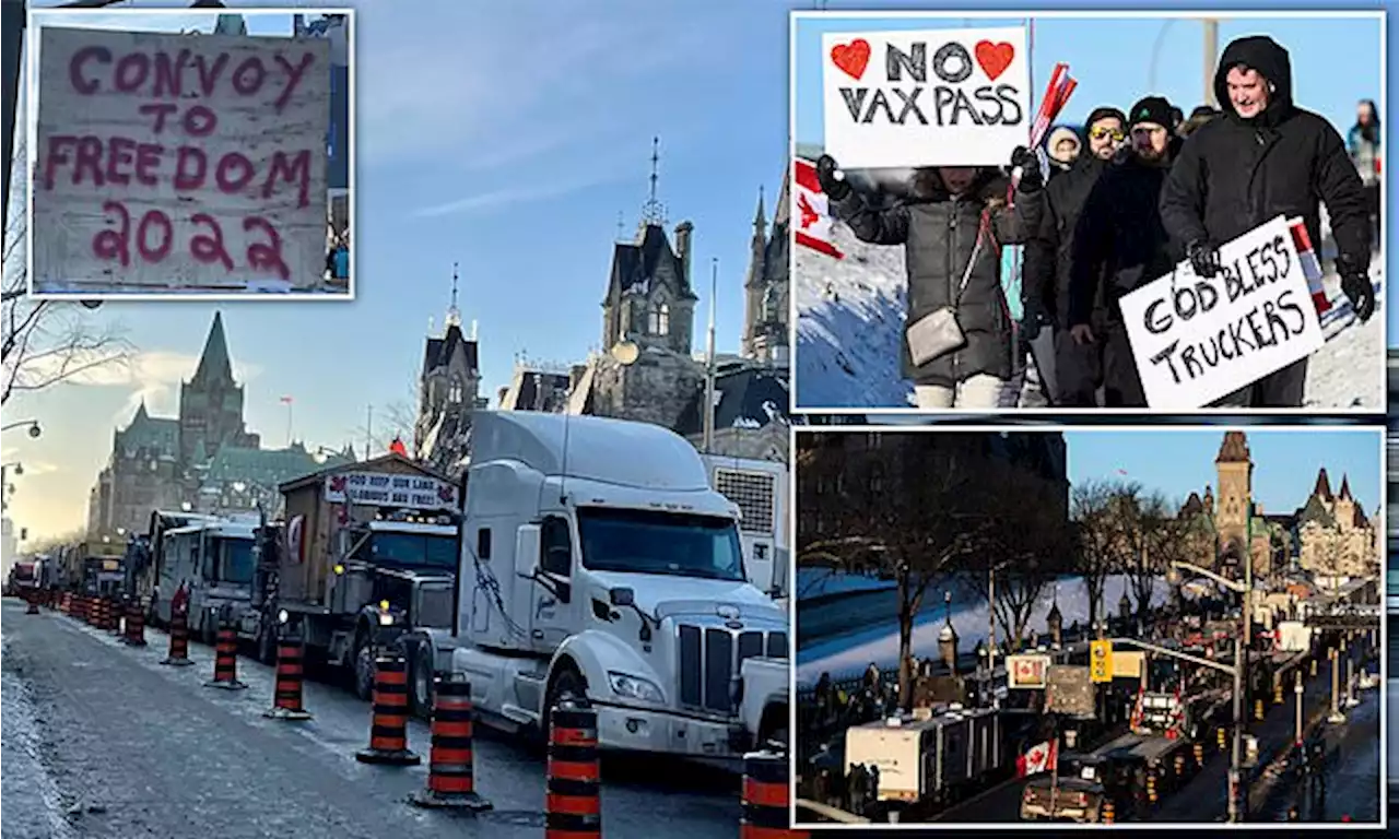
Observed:
[[[1228,101],[1228,70],[1245,64],[1273,84],[1267,108],[1242,119]],[[1301,217],[1321,243],[1319,201],[1330,214],[1343,259],[1370,267],[1370,208],[1340,134],[1293,105],[1287,50],[1272,38],[1240,38],[1214,76],[1224,115],[1185,141],[1161,193],[1161,220],[1177,248],[1196,239],[1223,245],[1279,215]]]

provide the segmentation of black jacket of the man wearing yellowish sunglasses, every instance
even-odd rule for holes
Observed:
[[[1107,161],[1081,154],[1072,169],[1051,179],[1038,193],[1016,201],[1016,213],[1025,231],[1021,299],[1038,298],[1058,329],[1070,326],[1069,266],[1074,228],[1083,204],[1105,166]]]

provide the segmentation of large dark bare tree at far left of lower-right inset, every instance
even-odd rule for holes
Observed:
[[[977,433],[797,438],[797,564],[891,580],[898,696],[912,702],[914,619],[932,583],[985,552],[1002,509]]]

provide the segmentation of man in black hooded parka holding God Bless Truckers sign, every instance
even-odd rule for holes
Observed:
[[[1224,113],[1191,134],[1161,193],[1172,241],[1184,245],[1196,274],[1213,277],[1220,245],[1279,215],[1301,217],[1319,246],[1325,201],[1340,288],[1356,316],[1368,320],[1375,291],[1365,194],[1336,129],[1293,103],[1287,50],[1265,35],[1231,42],[1214,74],[1214,95]],[[1304,358],[1214,404],[1301,407],[1305,385]]]

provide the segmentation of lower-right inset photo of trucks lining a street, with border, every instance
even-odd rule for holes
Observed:
[[[1240,826],[1388,824],[1386,449],[1356,425],[793,429],[792,825],[1216,829],[1235,745]],[[1235,708],[1244,635],[1265,666]],[[1290,762],[1298,682],[1326,800]]]

